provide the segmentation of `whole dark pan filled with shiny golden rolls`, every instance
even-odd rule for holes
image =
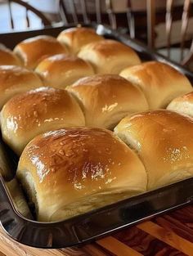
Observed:
[[[64,248],[192,202],[189,70],[103,25],[0,41],[0,222],[9,236]]]

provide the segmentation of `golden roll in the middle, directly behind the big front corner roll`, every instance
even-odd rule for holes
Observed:
[[[118,74],[96,74],[67,88],[82,106],[86,125],[114,128],[129,113],[148,110],[143,93]]]

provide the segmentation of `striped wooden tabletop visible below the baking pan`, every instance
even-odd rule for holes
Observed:
[[[1,253],[2,252],[2,253]],[[0,256],[182,256],[193,255],[193,205],[114,233],[90,245],[34,249],[11,240],[0,229]]]

